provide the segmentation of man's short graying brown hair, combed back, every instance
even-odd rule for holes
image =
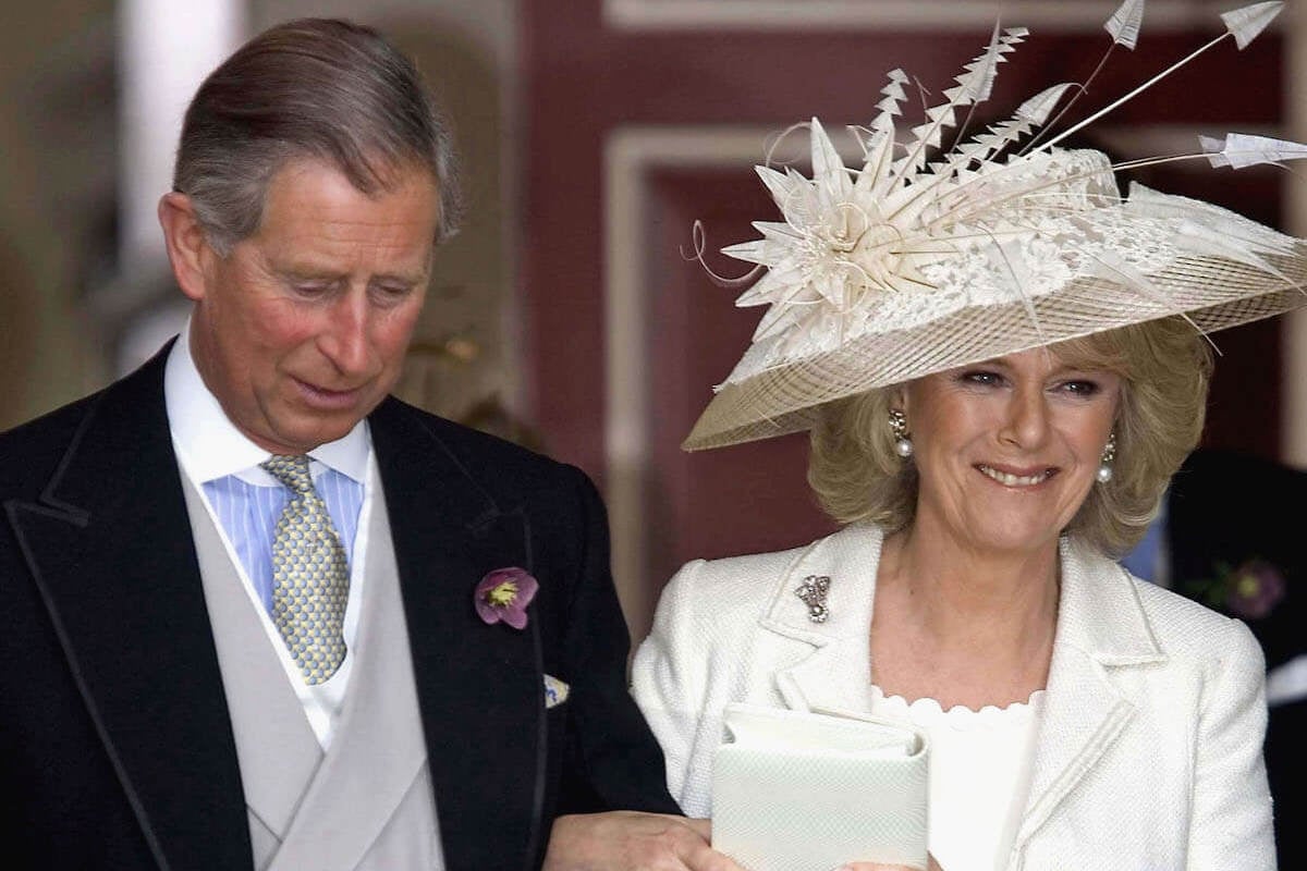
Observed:
[[[305,157],[370,196],[423,168],[440,198],[433,244],[457,229],[450,127],[413,63],[371,27],[302,18],[242,46],[186,111],[173,188],[191,197],[209,244],[225,256],[259,229],[277,170]]]

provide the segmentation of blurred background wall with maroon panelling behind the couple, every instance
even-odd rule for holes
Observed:
[[[993,115],[978,123],[1046,85],[1084,81],[1117,4],[1001,5],[1004,24],[1031,37],[1001,69]],[[1153,0],[1138,50],[1116,51],[1076,112],[1217,35],[1217,13],[1231,5]],[[733,294],[682,256],[691,223],[704,222],[710,251],[750,238],[749,222],[774,213],[750,170],[770,133],[812,115],[835,131],[868,121],[894,67],[938,94],[982,50],[999,7],[10,3],[0,29],[0,428],[107,383],[184,319],[150,225],[182,110],[165,84],[190,94],[201,73],[183,69],[187,59],[216,63],[276,21],[358,18],[392,35],[437,86],[469,188],[467,227],[438,257],[400,393],[600,483],[614,573],[640,636],[661,582],[686,559],[829,529],[804,484],[802,437],[678,451],[759,315],[736,309]],[[1223,44],[1095,124],[1093,142],[1124,159],[1191,151],[1197,133],[1227,129],[1303,138],[1307,95],[1290,84],[1307,81],[1304,46],[1307,24],[1290,8],[1244,52]],[[1140,180],[1307,230],[1307,185],[1291,172],[1183,165]],[[1206,444],[1307,465],[1307,385],[1295,375],[1304,333],[1303,319],[1283,319],[1218,337]]]

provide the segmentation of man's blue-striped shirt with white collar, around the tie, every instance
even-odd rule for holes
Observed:
[[[222,411],[217,397],[209,392],[200,377],[191,356],[190,323],[169,354],[163,375],[163,398],[167,406],[173,447],[176,451],[182,474],[204,494],[205,507],[222,534],[227,555],[259,614],[268,641],[286,674],[286,680],[290,682],[305,708],[308,725],[325,751],[331,746],[332,733],[349,684],[353,665],[352,652],[358,631],[358,610],[365,582],[362,567],[366,564],[367,518],[371,513],[371,501],[379,491],[379,475],[372,457],[372,441],[367,423],[359,422],[342,439],[319,445],[308,452],[310,471],[315,486],[319,487],[319,492],[328,504],[332,522],[341,533],[341,543],[345,546],[350,569],[344,627],[345,661],[331,679],[308,686],[269,615],[271,565],[261,565],[261,559],[271,559],[271,551],[267,551],[268,556],[261,556],[263,551],[259,545],[251,541],[251,537],[261,537],[271,542],[271,530],[251,531],[247,518],[260,512],[246,512],[233,505],[233,500],[240,499],[242,492],[252,494],[252,498],[265,503],[265,507],[267,504],[284,503],[288,495],[281,482],[259,466],[271,456],[269,452],[251,441],[231,423]],[[328,470],[339,474],[329,475]],[[324,475],[345,481],[345,484],[323,486],[320,482],[324,482]],[[248,487],[226,486],[234,483],[227,481],[233,477]],[[349,482],[362,488],[361,499],[348,494]],[[276,513],[268,511],[261,513],[265,516],[271,513],[272,522],[276,522]],[[352,534],[348,534],[350,531]]]

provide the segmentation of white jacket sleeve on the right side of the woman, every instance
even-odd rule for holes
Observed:
[[[1276,867],[1270,793],[1261,744],[1266,730],[1261,648],[1236,620],[1213,657],[1195,747],[1189,871]]]

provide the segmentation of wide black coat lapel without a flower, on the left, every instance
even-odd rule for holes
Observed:
[[[235,743],[163,406],[167,349],[88,406],[5,505],[159,868],[250,867]]]

